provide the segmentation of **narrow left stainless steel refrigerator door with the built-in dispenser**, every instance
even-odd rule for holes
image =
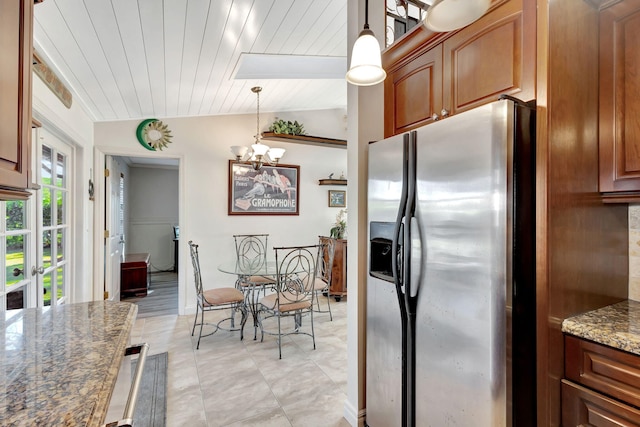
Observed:
[[[401,135],[369,145],[367,260],[373,275],[367,275],[366,422],[370,427],[399,425],[402,416],[400,308],[389,269],[376,262],[384,259],[381,254],[388,255],[385,241],[391,240],[400,204],[402,145]]]

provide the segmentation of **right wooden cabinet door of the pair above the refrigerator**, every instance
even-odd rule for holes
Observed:
[[[535,98],[536,4],[510,0],[444,42],[443,107],[457,114],[501,94]]]

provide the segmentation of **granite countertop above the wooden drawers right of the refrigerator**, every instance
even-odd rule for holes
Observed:
[[[640,302],[622,301],[565,319],[562,332],[640,356]]]

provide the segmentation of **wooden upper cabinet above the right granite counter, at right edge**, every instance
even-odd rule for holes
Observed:
[[[603,193],[640,192],[639,45],[640,0],[617,2],[600,12],[599,150]]]

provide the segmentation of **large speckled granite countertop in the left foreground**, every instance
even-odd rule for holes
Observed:
[[[7,311],[0,425],[103,425],[137,312],[112,301]]]

